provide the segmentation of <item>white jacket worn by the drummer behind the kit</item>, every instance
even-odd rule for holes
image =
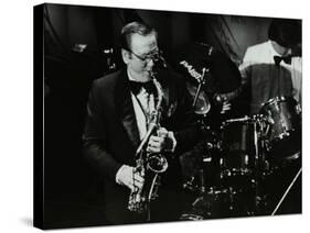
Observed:
[[[271,41],[267,41],[248,47],[239,66],[243,85],[250,85],[253,114],[275,97],[292,96],[301,102],[301,57],[292,57],[291,64],[282,60],[276,66],[274,56],[281,55],[274,49]]]

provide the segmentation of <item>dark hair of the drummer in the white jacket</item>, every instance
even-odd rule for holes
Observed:
[[[269,25],[268,37],[284,47],[301,43],[301,21],[274,19]]]

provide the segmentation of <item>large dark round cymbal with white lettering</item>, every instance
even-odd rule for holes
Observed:
[[[203,69],[207,69],[203,89],[209,93],[227,93],[240,86],[240,74],[228,55],[211,45],[192,43],[179,53],[177,70],[189,81],[199,82]]]

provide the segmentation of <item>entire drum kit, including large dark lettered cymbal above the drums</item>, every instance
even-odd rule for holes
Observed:
[[[278,96],[263,103],[257,114],[246,115],[238,69],[207,44],[186,46],[178,71],[186,78],[204,132],[203,140],[180,156],[183,188],[193,195],[181,220],[277,213],[301,173],[300,106],[292,97]],[[223,113],[221,106],[227,101],[237,108]],[[281,179],[289,180],[285,190]]]

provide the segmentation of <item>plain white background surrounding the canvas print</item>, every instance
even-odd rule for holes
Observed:
[[[306,0],[66,0],[54,3],[161,9],[205,13],[303,19],[303,214],[275,218],[209,220],[117,228],[85,228],[67,232],[306,232],[309,225],[309,166],[306,143],[309,123],[309,12]],[[0,231],[35,232],[32,221],[32,5],[42,1],[3,1],[1,4],[1,126],[0,126]],[[53,232],[53,231],[52,231]]]

